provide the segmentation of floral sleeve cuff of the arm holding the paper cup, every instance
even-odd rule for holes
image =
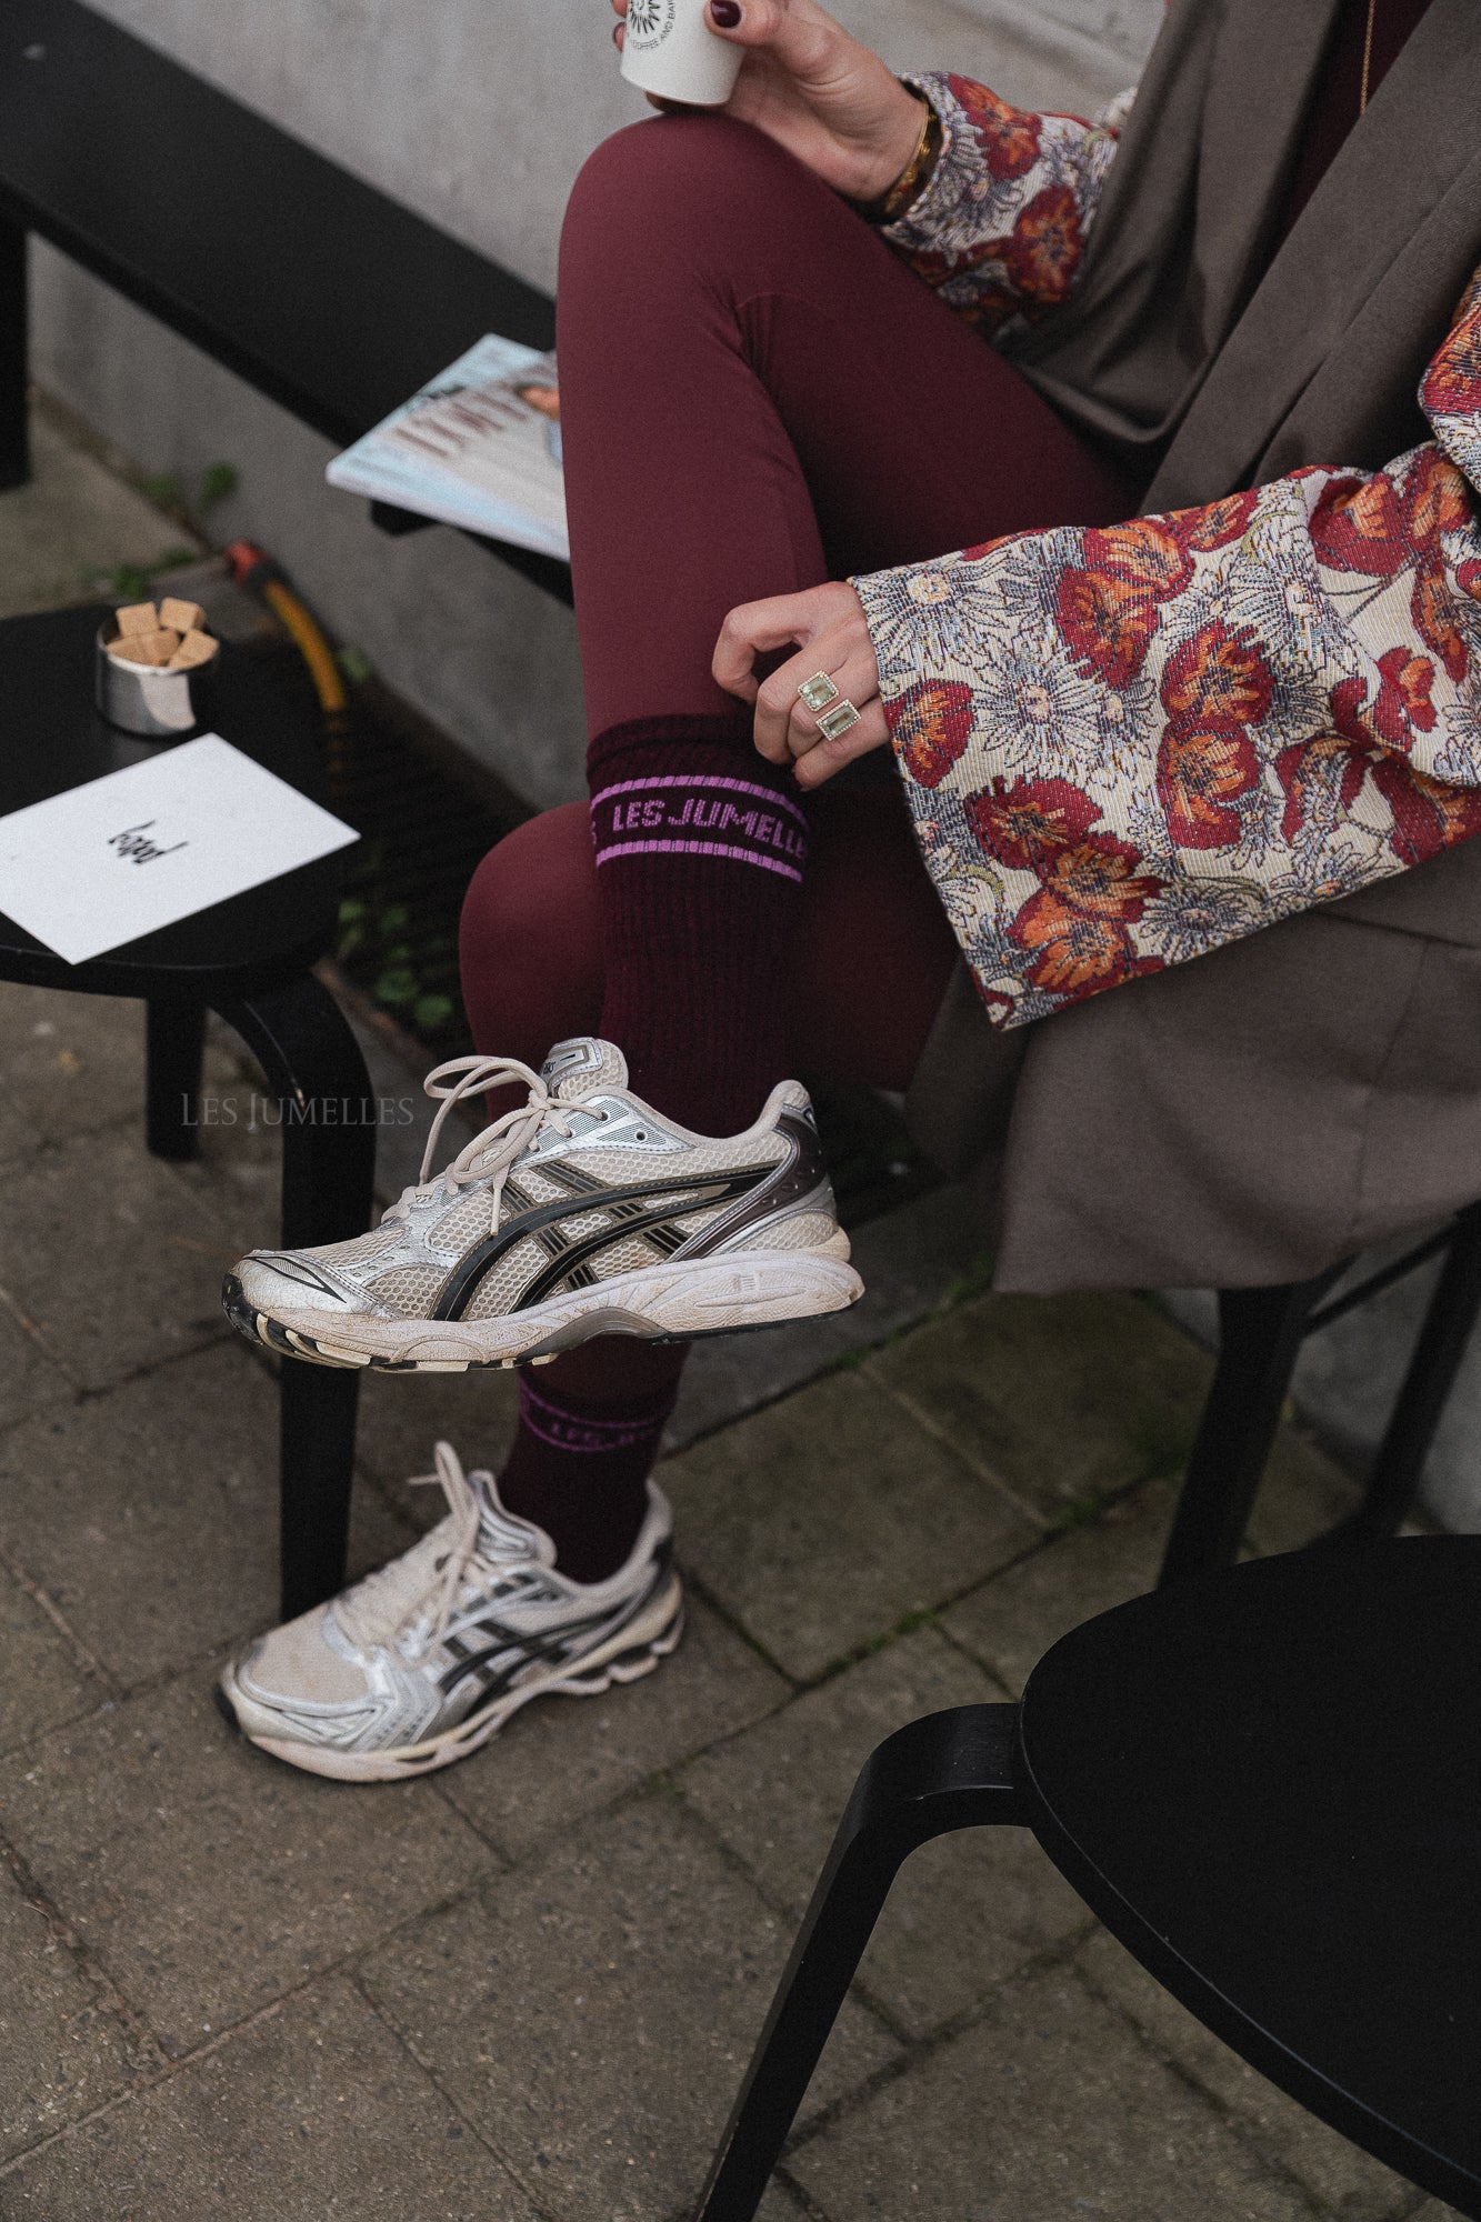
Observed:
[[[910,78],[943,124],[932,180],[885,238],[983,333],[1070,293],[1116,151],[1110,124],[1012,109],[985,84]]]

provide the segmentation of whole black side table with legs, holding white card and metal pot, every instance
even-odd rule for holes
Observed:
[[[173,747],[131,740],[93,711],[102,615],[62,609],[0,624],[0,813]],[[245,755],[322,800],[316,720],[229,642],[211,722]],[[67,964],[0,915],[0,978],[147,1002],[147,1142],[158,1158],[196,1153],[191,1104],[207,1011],[233,1027],[285,1104],[285,1244],[338,1242],[362,1233],[371,1218],[369,1075],[349,1024],[311,971],[334,935],[338,884],[338,858],[329,855],[87,964]],[[334,1595],[345,1578],[356,1402],[356,1373],[282,1367],[285,1618]]]

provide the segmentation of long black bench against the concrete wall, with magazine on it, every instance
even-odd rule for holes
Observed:
[[[338,447],[485,331],[554,344],[547,293],[78,0],[9,0],[0,36],[0,487],[31,231]],[[565,564],[487,547],[569,600]]]

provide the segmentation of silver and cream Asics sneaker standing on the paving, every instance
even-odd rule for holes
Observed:
[[[672,1518],[649,1509],[605,1582],[556,1571],[556,1547],[498,1502],[491,1473],[436,1447],[447,1518],[334,1604],[289,1620],[227,1666],[218,1702],[274,1758],[340,1782],[400,1782],[487,1744],[531,1698],[636,1682],[683,1633]]]

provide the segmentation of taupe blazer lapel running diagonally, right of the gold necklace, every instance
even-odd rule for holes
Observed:
[[[1281,424],[1383,289],[1423,309],[1423,271],[1410,271],[1419,233],[1481,156],[1481,7],[1430,0],[1368,113],[1350,131],[1294,231],[1265,271],[1227,344],[1216,353],[1145,507],[1174,509],[1250,484]],[[1212,118],[1210,118],[1212,120]],[[1227,133],[1219,153],[1230,162]],[[1481,240],[1474,242],[1481,251]],[[1459,289],[1454,271],[1437,271]],[[1432,280],[1432,282],[1434,282]],[[1414,329],[1412,347],[1439,342]],[[1419,358],[1423,367],[1423,353]],[[1376,364],[1374,364],[1376,371]],[[1305,462],[1365,462],[1350,453]],[[1388,458],[1376,458],[1385,462]],[[1281,469],[1292,460],[1283,458]]]

